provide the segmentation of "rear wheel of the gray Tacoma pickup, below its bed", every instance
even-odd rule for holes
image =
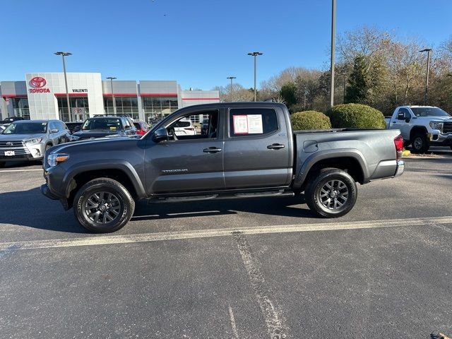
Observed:
[[[342,169],[321,169],[316,177],[311,178],[304,196],[316,215],[339,218],[355,206],[357,186],[350,174]]]

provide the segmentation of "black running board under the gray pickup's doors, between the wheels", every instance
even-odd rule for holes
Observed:
[[[168,196],[165,198],[150,198],[148,203],[185,203],[188,201],[203,201],[203,200],[232,200],[244,198],[268,198],[272,196],[287,197],[295,196],[293,191],[263,191],[252,193],[234,193],[234,194],[210,194],[203,196]]]

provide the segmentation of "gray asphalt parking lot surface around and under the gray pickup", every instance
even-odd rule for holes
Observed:
[[[452,152],[359,186],[339,220],[296,198],[148,206],[88,234],[0,169],[1,338],[452,335]]]

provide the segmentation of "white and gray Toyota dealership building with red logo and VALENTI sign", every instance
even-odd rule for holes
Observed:
[[[97,114],[124,114],[148,121],[176,109],[219,102],[218,90],[181,90],[177,81],[102,81],[100,73],[27,73],[25,81],[0,81],[0,116],[83,121]],[[69,117],[71,114],[71,118]],[[198,122],[198,121],[195,121]]]

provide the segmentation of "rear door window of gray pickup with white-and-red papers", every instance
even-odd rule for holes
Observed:
[[[258,136],[278,131],[275,109],[234,108],[229,112],[229,135]]]

